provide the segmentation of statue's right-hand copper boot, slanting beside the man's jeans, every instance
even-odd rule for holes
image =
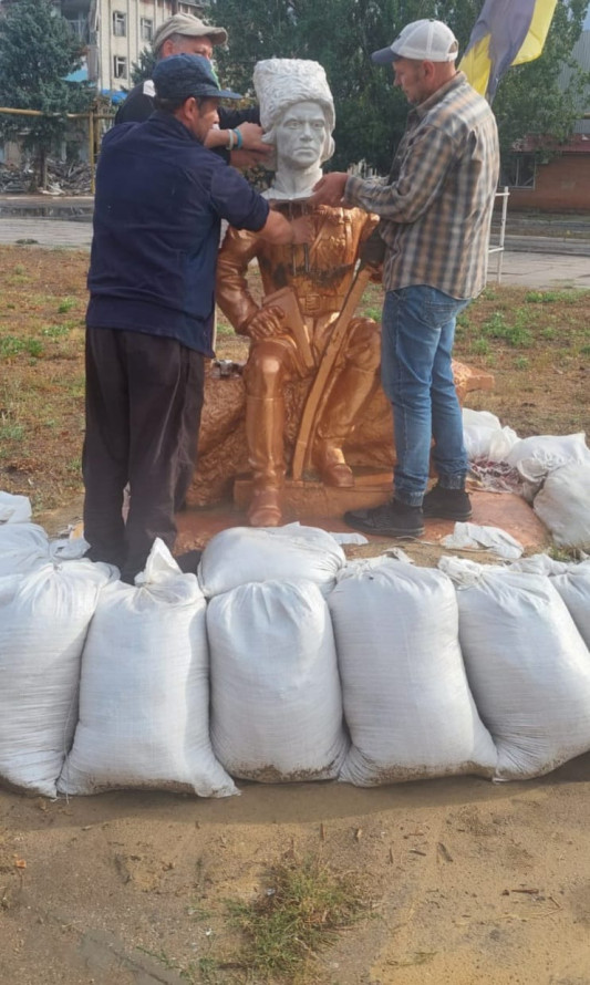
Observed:
[[[356,417],[372,394],[374,383],[373,369],[362,370],[348,365],[332,387],[313,449],[313,463],[327,486],[354,486],[354,476],[346,465],[342,445],[352,433]]]

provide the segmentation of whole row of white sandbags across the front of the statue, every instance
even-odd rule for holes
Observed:
[[[0,526],[0,778],[46,796],[540,776],[590,749],[590,562],[349,561],[232,528],[136,585]]]

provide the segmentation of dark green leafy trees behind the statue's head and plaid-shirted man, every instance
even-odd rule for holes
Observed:
[[[387,174],[407,115],[405,98],[392,86],[391,70],[371,63],[371,52],[390,44],[410,21],[445,21],[465,51],[483,0],[211,0],[210,20],[229,32],[229,50],[218,54],[225,83],[251,93],[255,63],[267,58],[320,62],[334,95],[337,153],[329,167],[343,169],[364,159]],[[556,141],[571,133],[580,73],[568,89],[560,73],[580,35],[588,0],[559,0],[541,58],[510,69],[494,111],[503,154],[515,139],[542,133]]]

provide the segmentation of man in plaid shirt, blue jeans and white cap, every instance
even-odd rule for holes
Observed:
[[[457,52],[446,24],[420,20],[373,53],[377,64],[393,63],[394,84],[413,106],[391,174],[385,183],[324,175],[312,198],[381,220],[381,376],[396,464],[390,502],[345,514],[366,533],[420,537],[424,517],[472,516],[452,350],[457,314],[486,283],[499,151],[494,114],[456,70]],[[438,481],[426,492],[433,438]]]

